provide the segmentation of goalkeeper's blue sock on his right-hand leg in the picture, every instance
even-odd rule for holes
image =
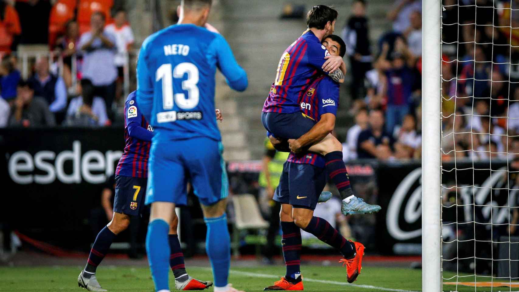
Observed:
[[[227,286],[230,267],[230,236],[227,216],[204,218],[207,225],[206,252],[213,268],[214,290]]]

